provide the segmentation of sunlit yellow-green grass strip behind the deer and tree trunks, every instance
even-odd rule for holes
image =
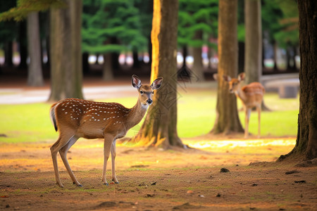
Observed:
[[[108,99],[130,108],[137,99]],[[296,136],[299,99],[280,99],[278,94],[266,94],[266,105],[272,112],[261,114],[261,136]],[[49,103],[23,105],[0,105],[0,142],[18,143],[35,141],[55,141],[55,132],[49,118]],[[238,103],[238,108],[241,108]],[[180,92],[178,98],[178,134],[180,137],[200,136],[210,132],[216,118],[216,91]],[[257,134],[257,113],[251,113],[249,132]],[[244,125],[244,112],[240,112]],[[142,122],[130,129],[127,136],[134,136]]]

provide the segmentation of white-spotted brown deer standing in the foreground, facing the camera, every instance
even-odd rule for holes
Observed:
[[[71,146],[83,137],[85,139],[104,139],[104,170],[102,181],[106,181],[106,166],[111,153],[112,180],[118,184],[116,177],[116,139],[122,138],[128,130],[138,124],[147,108],[153,103],[154,89],[161,87],[163,77],[154,80],[151,85],[142,85],[136,75],[132,75],[132,86],[139,92],[139,98],[133,108],[125,108],[119,103],[97,103],[75,98],[59,101],[51,106],[51,120],[55,130],[59,131],[57,141],[51,146],[54,172],[58,186],[63,187],[59,177],[57,158],[59,152],[63,163],[73,180],[73,184],[82,186],[76,179],[67,160],[67,152]]]

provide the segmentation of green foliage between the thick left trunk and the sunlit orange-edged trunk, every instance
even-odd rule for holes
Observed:
[[[107,53],[147,47],[136,1],[84,0],[82,51]],[[115,40],[115,41],[114,41]]]

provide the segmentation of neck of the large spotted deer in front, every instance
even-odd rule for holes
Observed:
[[[133,108],[130,109],[130,112],[128,114],[127,125],[129,129],[131,127],[134,127],[142,120],[145,113],[147,113],[147,108],[149,108],[149,105],[144,105],[139,99],[137,100],[137,103],[135,104],[135,106],[133,106]]]

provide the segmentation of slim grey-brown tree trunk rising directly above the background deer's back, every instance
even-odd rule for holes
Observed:
[[[259,82],[262,73],[261,1],[244,1],[245,23],[245,83]]]

